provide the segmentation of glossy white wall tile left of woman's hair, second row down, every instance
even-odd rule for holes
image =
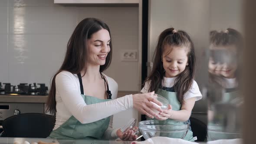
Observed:
[[[9,35],[10,62],[62,62],[69,35]]]

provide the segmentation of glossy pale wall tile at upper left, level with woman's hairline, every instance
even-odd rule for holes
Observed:
[[[9,7],[10,34],[71,34],[74,7]]]

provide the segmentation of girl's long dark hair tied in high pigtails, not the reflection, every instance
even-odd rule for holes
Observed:
[[[153,56],[153,67],[144,84],[149,82],[150,85],[148,91],[150,92],[157,91],[158,88],[162,88],[162,80],[164,78],[165,71],[161,59],[164,52],[164,46],[166,45],[171,47],[185,46],[189,48],[189,52],[187,53],[188,65],[174,81],[174,90],[177,92],[177,98],[181,103],[183,103],[183,96],[190,89],[194,81],[196,62],[194,44],[190,39],[190,36],[183,30],[174,32],[174,28],[168,28],[160,34]]]

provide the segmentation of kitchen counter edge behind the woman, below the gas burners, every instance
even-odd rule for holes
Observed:
[[[134,91],[118,91],[118,98],[130,95],[137,94],[138,92]],[[39,96],[39,95],[0,95],[0,102],[16,102],[16,103],[46,103],[48,96]]]

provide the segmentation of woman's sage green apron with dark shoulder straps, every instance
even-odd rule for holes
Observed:
[[[109,99],[99,99],[92,96],[83,95],[84,92],[83,92],[81,75],[78,74],[78,77],[80,82],[81,96],[84,99],[86,105],[91,105],[91,104],[96,104],[96,103],[111,100],[110,99],[111,93],[110,94],[108,93]],[[105,80],[104,77],[103,79]],[[108,90],[108,92],[110,91]],[[56,138],[56,139],[102,139],[106,129],[108,128],[109,121],[110,121],[110,116],[92,123],[82,124],[74,116],[71,116],[59,128],[52,131],[49,137]]]

